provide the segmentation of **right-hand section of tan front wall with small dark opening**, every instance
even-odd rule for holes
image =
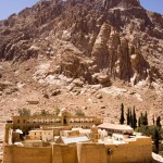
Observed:
[[[78,163],[150,163],[150,139],[138,139],[125,145],[78,143]]]

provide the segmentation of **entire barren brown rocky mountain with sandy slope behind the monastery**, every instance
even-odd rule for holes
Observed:
[[[1,123],[66,106],[163,115],[163,15],[138,0],[42,0],[0,22]]]

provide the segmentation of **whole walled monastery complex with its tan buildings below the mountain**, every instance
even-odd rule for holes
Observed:
[[[151,138],[66,110],[7,122],[3,163],[151,163]]]

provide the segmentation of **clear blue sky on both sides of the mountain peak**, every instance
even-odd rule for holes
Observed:
[[[39,0],[0,0],[0,20],[12,13],[17,13],[26,7],[32,7]],[[140,0],[145,9],[163,14],[163,0]]]

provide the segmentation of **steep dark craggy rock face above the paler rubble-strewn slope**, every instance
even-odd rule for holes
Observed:
[[[0,22],[0,59],[43,55],[55,74],[104,84],[163,80],[163,16],[138,0],[40,1]],[[101,78],[95,82],[93,75]]]

